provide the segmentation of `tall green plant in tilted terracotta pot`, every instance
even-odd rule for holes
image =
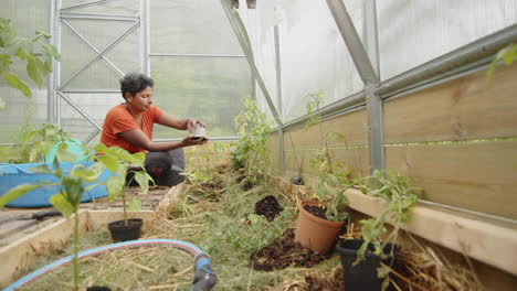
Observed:
[[[313,98],[307,104],[307,114],[310,116],[314,109],[316,115],[312,116],[306,128],[314,123],[319,123],[320,150],[310,160],[313,166],[317,166],[318,180],[315,188],[315,200],[302,201],[299,214],[296,222],[295,241],[302,244],[319,254],[327,254],[331,250],[339,230],[345,225],[348,217],[348,201],[344,194],[350,184],[350,169],[335,159],[329,150],[328,141],[331,138],[342,140],[342,136],[328,132],[325,138],[319,116],[319,108],[323,104],[323,94],[309,95]]]

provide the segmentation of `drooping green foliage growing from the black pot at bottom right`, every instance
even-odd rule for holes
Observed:
[[[358,250],[356,262],[365,259],[370,244],[373,245],[373,252],[381,259],[392,258],[394,248],[392,247],[388,255],[383,252],[383,249],[387,248],[388,244],[394,246],[401,225],[410,220],[409,211],[416,204],[422,190],[412,186],[409,177],[399,175],[393,169],[376,170],[371,176],[365,177],[362,182],[359,190],[363,194],[383,198],[388,202],[388,206],[378,217],[360,222],[365,242]],[[387,222],[392,225],[391,230],[386,226]],[[380,267],[378,270],[379,278],[384,278],[382,290],[389,285],[389,269],[384,267]]]

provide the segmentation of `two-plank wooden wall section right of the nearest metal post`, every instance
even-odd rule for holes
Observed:
[[[517,219],[516,77],[498,66],[488,86],[481,71],[384,103],[387,166],[425,200]]]

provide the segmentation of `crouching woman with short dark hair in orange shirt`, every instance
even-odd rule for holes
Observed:
[[[157,185],[179,183],[184,170],[182,148],[203,144],[208,139],[192,139],[189,134],[178,142],[152,141],[154,123],[188,130],[197,123],[192,118],[178,119],[152,106],[155,82],[144,74],[127,74],[120,80],[120,90],[126,103],[115,106],[104,120],[101,142],[107,147],[119,147],[130,153],[146,153],[146,170]]]

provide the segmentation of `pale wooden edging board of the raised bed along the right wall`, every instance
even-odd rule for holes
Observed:
[[[388,204],[354,188],[345,195],[351,208],[369,216],[378,216]],[[410,215],[402,226],[407,231],[517,276],[517,230],[419,205]]]

